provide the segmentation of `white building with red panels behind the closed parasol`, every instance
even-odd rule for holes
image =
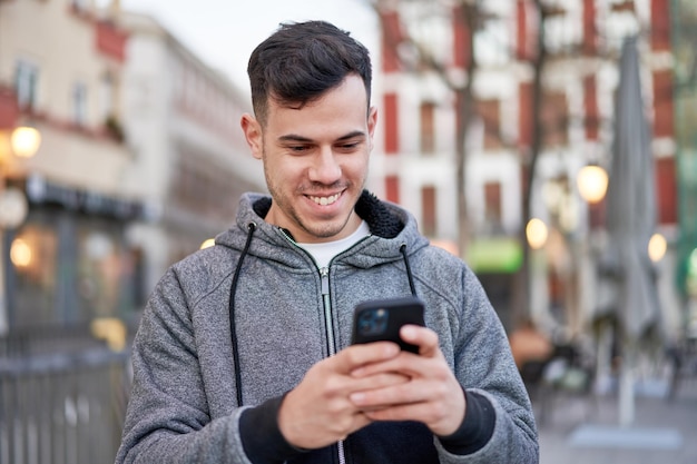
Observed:
[[[609,167],[619,52],[635,34],[652,129],[657,231],[669,244],[655,265],[666,324],[680,324],[670,3],[377,3],[383,191],[416,214],[424,234],[452,245],[464,152],[469,245],[455,253],[479,274],[509,329],[532,315],[578,334],[602,304],[605,206],[586,203],[576,180],[587,165]],[[549,236],[522,259],[532,217]]]

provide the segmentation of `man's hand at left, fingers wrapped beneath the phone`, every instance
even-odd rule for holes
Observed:
[[[351,373],[361,366],[389,363],[399,355],[397,345],[379,342],[350,346],[315,364],[281,405],[278,427],[285,440],[296,447],[314,450],[370,424],[364,407],[353,403],[350,395],[404,384],[408,377],[390,371],[361,377]]]

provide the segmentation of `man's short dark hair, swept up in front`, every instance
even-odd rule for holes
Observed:
[[[249,57],[254,113],[266,124],[272,98],[302,108],[351,73],[363,79],[370,107],[371,59],[361,42],[325,21],[282,23]]]

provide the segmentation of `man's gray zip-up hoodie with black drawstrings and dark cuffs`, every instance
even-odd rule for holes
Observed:
[[[117,463],[537,463],[530,401],[505,333],[462,260],[414,218],[364,192],[371,235],[317,270],[264,221],[271,198],[242,197],[216,246],[174,265],[132,346],[134,384]],[[374,423],[333,446],[294,450],[278,432],[283,395],[351,342],[361,302],[418,295],[468,399],[460,431]],[[233,317],[230,318],[230,314]]]

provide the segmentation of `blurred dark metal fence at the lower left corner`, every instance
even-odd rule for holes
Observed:
[[[0,339],[0,464],[114,463],[129,355],[81,330]]]

